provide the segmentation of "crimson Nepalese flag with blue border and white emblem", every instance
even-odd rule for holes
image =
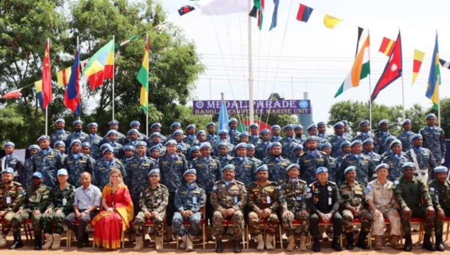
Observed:
[[[387,60],[386,66],[379,77],[378,82],[376,82],[375,88],[373,89],[371,100],[375,100],[378,93],[387,87],[392,81],[396,80],[401,76],[403,71],[403,63],[401,58],[401,39],[400,31],[398,31],[397,39],[390,53],[389,60]]]

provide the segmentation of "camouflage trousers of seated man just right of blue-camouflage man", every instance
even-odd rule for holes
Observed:
[[[223,220],[231,218],[233,223],[232,229],[234,232],[234,240],[240,240],[242,238],[242,229],[244,226],[243,213],[241,210],[234,211],[233,215],[225,217],[223,214],[216,210],[212,215],[212,235],[216,238],[221,238],[223,233]]]

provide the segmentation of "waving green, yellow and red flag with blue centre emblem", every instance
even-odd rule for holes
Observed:
[[[114,40],[110,40],[93,54],[86,66],[83,75],[87,77],[90,89],[103,84],[103,79],[114,76]]]

